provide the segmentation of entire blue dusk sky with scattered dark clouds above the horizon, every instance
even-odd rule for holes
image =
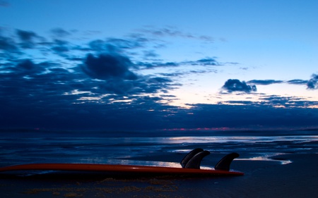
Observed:
[[[0,0],[0,128],[316,128],[317,10],[315,0]]]

